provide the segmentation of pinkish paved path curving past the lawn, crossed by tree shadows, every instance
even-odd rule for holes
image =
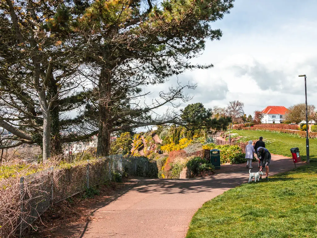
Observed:
[[[272,155],[270,175],[293,168],[291,159]],[[138,179],[125,195],[96,210],[93,222],[79,237],[183,238],[204,202],[248,179],[245,164],[223,165],[216,175],[204,178]]]

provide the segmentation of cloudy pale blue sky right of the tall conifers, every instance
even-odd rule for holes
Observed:
[[[289,107],[305,102],[304,77],[299,74],[307,75],[307,102],[317,106],[316,9],[316,0],[236,0],[230,14],[211,23],[222,30],[220,41],[207,41],[203,54],[192,61],[214,67],[178,77],[197,83],[187,91],[193,98],[182,108],[195,102],[224,107],[239,100],[245,114],[253,115],[268,105]],[[175,82],[171,78],[159,89]]]

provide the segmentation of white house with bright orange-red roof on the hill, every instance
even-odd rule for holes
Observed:
[[[262,113],[264,114],[262,123],[281,123],[284,121],[288,109],[284,106],[267,106]]]

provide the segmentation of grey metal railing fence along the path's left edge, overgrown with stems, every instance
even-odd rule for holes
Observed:
[[[20,178],[20,233],[52,204],[111,180],[112,173],[157,176],[156,161],[129,155],[110,155],[65,163]]]

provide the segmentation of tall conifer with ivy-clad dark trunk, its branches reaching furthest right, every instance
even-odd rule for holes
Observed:
[[[187,101],[178,85],[159,93],[146,104],[146,85],[165,83],[169,77],[188,69],[209,68],[193,65],[205,40],[218,40],[222,32],[210,23],[223,18],[233,7],[232,0],[94,1],[79,20],[79,31],[88,42],[87,68],[95,87],[90,115],[97,118],[97,154],[108,155],[110,135],[115,130],[177,123],[151,112],[175,99]],[[86,70],[87,71],[87,70]],[[83,72],[85,74],[85,72]],[[172,104],[173,105],[173,104]],[[173,105],[177,106],[177,105]]]

